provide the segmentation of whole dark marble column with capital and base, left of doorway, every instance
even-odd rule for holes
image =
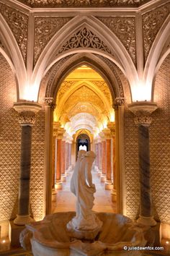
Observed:
[[[35,114],[40,111],[40,108],[39,104],[32,102],[14,103],[14,109],[19,112],[19,123],[22,127],[18,214],[14,219],[14,224],[17,225],[25,225],[33,221],[30,217],[32,126],[35,123]]]

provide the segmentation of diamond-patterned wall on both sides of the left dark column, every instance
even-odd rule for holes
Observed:
[[[17,214],[21,127],[13,103],[17,101],[14,74],[0,54],[0,222]],[[35,220],[42,218],[45,111],[32,127],[30,208]]]

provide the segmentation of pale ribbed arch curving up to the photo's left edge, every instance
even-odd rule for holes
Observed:
[[[24,86],[27,82],[27,72],[24,65],[24,60],[17,44],[14,35],[9,28],[9,25],[4,20],[4,17],[0,14],[0,37],[3,40],[4,48],[6,48],[7,53],[0,46],[1,54],[4,55],[6,61],[8,61],[9,66],[12,68],[12,72],[14,73],[14,77],[17,85],[17,100],[19,100],[19,96],[22,97],[24,95]]]

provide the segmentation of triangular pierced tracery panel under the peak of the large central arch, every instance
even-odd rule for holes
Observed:
[[[111,54],[107,45],[87,27],[82,27],[78,32],[73,33],[71,38],[58,51],[58,54],[74,48],[94,48]]]

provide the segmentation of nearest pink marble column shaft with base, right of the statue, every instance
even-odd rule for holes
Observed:
[[[106,140],[106,182],[105,189],[112,189],[111,176],[111,138]]]

